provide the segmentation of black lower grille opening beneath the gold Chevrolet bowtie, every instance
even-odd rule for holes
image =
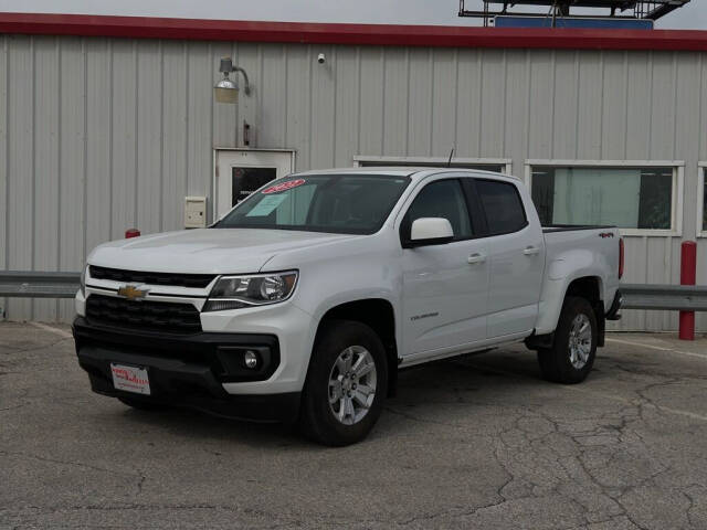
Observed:
[[[191,304],[135,301],[103,295],[88,296],[86,319],[99,326],[146,331],[198,333],[202,330],[199,311]]]

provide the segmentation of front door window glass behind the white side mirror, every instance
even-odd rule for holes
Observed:
[[[404,240],[410,239],[413,221],[421,218],[446,219],[454,230],[455,240],[473,236],[466,200],[457,180],[439,180],[422,189],[403,219],[402,236]]]

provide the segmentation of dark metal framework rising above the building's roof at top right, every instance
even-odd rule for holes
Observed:
[[[475,4],[478,0],[472,0]],[[482,0],[482,9],[467,9],[468,0],[460,0],[460,17],[484,19],[488,25],[494,17],[518,14],[523,17],[574,18],[573,8],[595,9],[599,18],[627,18],[658,20],[689,3],[690,0]],[[517,10],[517,8],[521,10]],[[530,8],[530,9],[529,9]],[[536,8],[532,10],[531,8]],[[587,17],[583,13],[581,17]]]

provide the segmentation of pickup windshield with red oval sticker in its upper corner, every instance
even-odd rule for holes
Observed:
[[[409,182],[388,174],[286,177],[250,195],[215,227],[372,234]]]

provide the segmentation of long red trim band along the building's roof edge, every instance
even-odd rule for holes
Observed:
[[[496,29],[0,13],[0,32],[384,46],[707,51],[707,31],[682,30]]]

